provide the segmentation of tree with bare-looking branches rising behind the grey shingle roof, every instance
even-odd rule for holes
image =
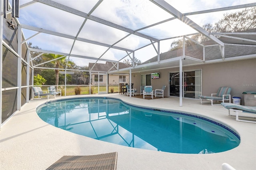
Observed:
[[[223,18],[212,24],[205,24],[202,26],[207,32],[242,32],[256,28],[256,7],[246,8],[242,11],[224,14]],[[209,39],[206,36],[197,34],[192,36],[196,42],[202,43]],[[194,42],[185,40],[185,46],[193,45]],[[169,51],[176,50],[183,47],[183,41],[175,40],[171,43]]]

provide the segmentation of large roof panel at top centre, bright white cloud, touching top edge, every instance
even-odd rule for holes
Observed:
[[[132,30],[172,18],[149,0],[105,0],[92,15]]]

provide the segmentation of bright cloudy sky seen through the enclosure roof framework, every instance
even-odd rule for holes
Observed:
[[[10,1],[10,0],[9,0]],[[20,5],[30,2],[28,0],[20,0]],[[96,0],[56,0],[55,2],[64,4],[68,7],[89,13],[92,7],[96,4]],[[174,8],[181,13],[209,10],[214,8],[222,8],[226,6],[234,6],[240,4],[253,3],[255,0],[166,0]],[[12,2],[10,1],[10,4]],[[240,9],[242,10],[242,9]],[[214,24],[222,18],[223,14],[235,12],[224,11],[214,12],[200,15],[188,16],[199,26],[210,23]],[[104,0],[94,12],[92,16],[102,18],[108,22],[118,24],[131,30],[138,30],[145,26],[172,18],[173,16],[158,6],[154,5],[149,0]],[[18,18],[20,24],[30,25],[37,28],[60,32],[70,36],[77,36],[77,33],[84,22],[84,18],[68,14],[62,10],[57,10],[50,6],[41,3],[34,3],[30,6],[20,9],[20,17]],[[22,29],[25,38],[33,36],[37,32]],[[179,20],[172,20],[152,28],[139,31],[142,34],[152,36],[156,39],[164,39],[175,36],[182,36],[184,34],[196,33],[195,30],[180,22]],[[84,27],[81,29],[78,38],[84,38],[91,41],[115,45],[118,47],[136,50],[144,45],[150,44],[150,40],[138,36],[128,36],[124,40],[116,43],[118,40],[127,36],[128,33],[112,28],[110,26],[102,25],[92,20],[87,20]],[[174,39],[160,42],[160,53],[166,52],[170,49],[170,44]],[[102,59],[120,60],[127,55],[126,51],[118,49],[107,50],[108,47],[103,47],[95,44],[85,43],[52,36],[40,33],[28,42],[38,47],[63,53],[72,53],[75,55],[83,55],[87,57],[101,57]],[[72,45],[74,43],[74,47]],[[116,44],[114,44],[116,43]],[[158,44],[154,43],[157,49]],[[71,50],[72,49],[72,50]],[[135,51],[135,57],[142,62],[156,56],[157,53],[154,46],[151,44],[144,49]],[[130,55],[132,57],[132,54]],[[95,62],[95,60],[82,59],[70,57],[79,66],[88,65],[88,62]],[[121,60],[122,61],[122,60]],[[104,63],[104,62],[99,62]]]

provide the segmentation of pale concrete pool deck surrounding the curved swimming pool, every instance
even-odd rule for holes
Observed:
[[[195,113],[218,121],[236,131],[240,145],[232,150],[214,154],[175,154],[120,146],[95,140],[56,128],[42,121],[35,112],[47,99],[31,100],[15,113],[0,130],[1,170],[44,170],[64,155],[93,155],[118,152],[118,170],[221,170],[228,163],[236,170],[256,169],[256,124],[236,121],[222,106],[201,104],[200,100],[168,97],[146,100],[125,95],[90,95],[115,97],[134,105],[155,106],[181,112]],[[77,96],[61,97],[70,98]],[[89,97],[79,95],[79,97]],[[56,99],[60,99],[56,97]],[[54,100],[54,99],[50,99]],[[252,119],[251,119],[252,120]],[[254,119],[255,120],[255,119]],[[256,121],[256,120],[255,120]]]

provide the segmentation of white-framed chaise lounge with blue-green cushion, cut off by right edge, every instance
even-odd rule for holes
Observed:
[[[236,121],[256,123],[256,121],[247,121],[247,120],[239,119],[239,116],[240,117],[250,117],[249,115],[251,115],[251,114],[254,114],[254,115],[252,115],[251,118],[255,118],[256,117],[256,107],[253,107],[253,106],[242,106],[242,105],[237,105],[237,104],[234,104],[234,103],[221,103],[221,105],[223,107],[225,107],[226,109],[228,109],[228,115],[229,116],[232,116],[230,114],[230,111],[234,111],[235,112],[235,114],[236,114]],[[246,115],[245,116],[241,115],[241,113],[246,113]],[[248,114],[248,113],[251,113],[251,114]]]

